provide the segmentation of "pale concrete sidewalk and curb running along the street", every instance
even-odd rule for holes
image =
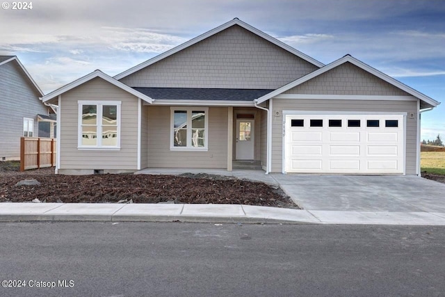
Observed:
[[[0,221],[445,225],[445,213],[307,211],[234,204],[1,203]]]

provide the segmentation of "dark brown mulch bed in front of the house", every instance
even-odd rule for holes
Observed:
[[[39,186],[15,186],[37,179]],[[0,169],[0,202],[134,202],[248,204],[298,209],[280,188],[233,177],[175,175],[54,175],[54,168]]]

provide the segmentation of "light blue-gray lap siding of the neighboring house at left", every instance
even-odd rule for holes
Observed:
[[[38,113],[48,115],[49,107],[16,61],[0,65],[0,160],[19,159],[23,119],[34,120],[33,136],[38,136]]]

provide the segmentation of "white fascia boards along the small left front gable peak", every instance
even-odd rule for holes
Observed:
[[[81,77],[80,79],[76,79],[75,81],[72,81],[72,83],[68,83],[67,85],[58,88],[57,90],[54,90],[53,92],[45,95],[42,97],[43,102],[47,102],[50,99],[53,99],[54,97],[57,97],[58,95],[61,95],[63,93],[66,93],[69,90],[72,90],[73,88],[76,88],[80,86],[83,83],[86,83],[87,81],[90,81],[92,79],[95,79],[96,77],[100,77],[101,79],[104,79],[104,81],[108,81],[108,83],[113,84],[114,86],[117,86],[118,88],[121,88],[124,91],[127,91],[131,95],[134,95],[140,99],[143,99],[147,103],[152,103],[153,99],[148,97],[147,95],[144,95],[143,93],[138,92],[137,90],[134,90],[133,88],[130,88],[124,83],[121,83],[120,81],[117,81],[113,79],[113,77],[108,76],[104,72],[100,70],[95,70],[91,72],[90,74],[87,74],[85,77]]]

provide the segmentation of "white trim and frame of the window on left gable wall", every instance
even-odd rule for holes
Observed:
[[[95,100],[79,100],[78,104],[78,127],[77,127],[77,149],[78,150],[120,150],[120,118],[121,118],[121,105],[122,101],[95,101]],[[82,106],[83,105],[96,105],[97,106],[97,145],[82,145]],[[102,119],[102,106],[115,105],[118,107],[117,120],[118,120],[118,145],[116,146],[102,146],[102,125],[99,125],[99,120]],[[100,106],[100,108],[99,108]]]

